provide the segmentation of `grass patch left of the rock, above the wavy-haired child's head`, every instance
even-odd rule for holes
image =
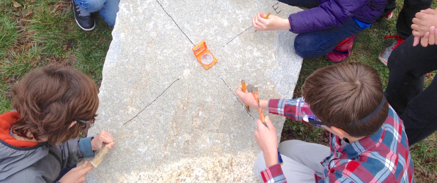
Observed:
[[[7,93],[32,68],[59,64],[76,68],[99,85],[112,27],[98,16],[93,31],[74,21],[71,1],[0,0],[0,112],[10,110]]]

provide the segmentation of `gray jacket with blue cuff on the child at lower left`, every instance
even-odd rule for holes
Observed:
[[[12,146],[0,139],[0,182],[53,183],[62,169],[73,166],[79,158],[94,156],[91,139],[71,139],[59,146],[44,142],[33,147]]]

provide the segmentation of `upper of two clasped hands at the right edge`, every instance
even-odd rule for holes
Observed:
[[[417,37],[424,37],[425,33],[428,32],[431,26],[437,26],[437,9],[433,10],[428,8],[426,10],[421,10],[416,13],[416,17],[413,18],[413,24],[411,28],[413,30],[413,35]]]

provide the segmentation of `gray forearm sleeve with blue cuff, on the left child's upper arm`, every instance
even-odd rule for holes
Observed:
[[[62,167],[71,167],[77,163],[79,158],[94,157],[94,152],[91,148],[91,139],[94,137],[87,137],[83,139],[70,139],[67,142],[59,145],[60,158],[62,160]]]

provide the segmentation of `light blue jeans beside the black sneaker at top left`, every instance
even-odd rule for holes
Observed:
[[[99,11],[110,26],[114,26],[120,0],[74,0],[74,2],[89,12]]]

